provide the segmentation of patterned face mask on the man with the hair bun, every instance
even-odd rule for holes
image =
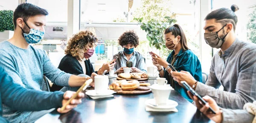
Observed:
[[[227,24],[226,24],[227,25]],[[224,25],[219,31],[221,31],[226,25]],[[209,33],[204,33],[204,40],[205,42],[211,46],[212,48],[220,48],[223,43],[225,42],[225,37],[227,36],[227,34],[221,39],[218,36],[218,32],[209,32]]]

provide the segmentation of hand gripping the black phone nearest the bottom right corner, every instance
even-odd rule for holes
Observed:
[[[221,123],[222,121],[222,110],[219,109],[216,101],[209,97],[208,95],[204,96],[203,99],[207,101],[205,105],[198,100],[198,98],[193,95],[191,92],[187,91],[189,94],[189,97],[192,98],[192,100],[195,101],[195,106],[202,112],[204,115],[206,115],[209,119],[213,120],[216,123]],[[216,114],[213,114],[212,112],[209,112],[208,109],[211,107]]]

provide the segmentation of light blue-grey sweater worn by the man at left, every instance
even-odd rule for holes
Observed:
[[[44,50],[32,46],[21,49],[8,41],[1,42],[0,46],[0,66],[15,83],[28,89],[41,90],[45,75],[55,84],[68,87],[71,74],[54,67]],[[16,111],[3,104],[3,117],[12,123],[19,123],[30,113],[32,112]]]

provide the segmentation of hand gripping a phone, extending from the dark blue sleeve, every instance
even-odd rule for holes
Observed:
[[[75,95],[76,92],[73,91],[66,91],[63,95],[63,100],[62,100],[62,106],[64,106],[67,101],[73,96]],[[75,99],[73,99],[69,105],[67,105],[64,109],[64,111],[61,112],[61,108],[58,108],[57,111],[60,113],[67,113],[69,112],[71,109],[75,108],[78,104],[80,104],[82,102],[81,98],[84,98],[84,93],[79,92],[79,94],[77,95],[77,97]]]

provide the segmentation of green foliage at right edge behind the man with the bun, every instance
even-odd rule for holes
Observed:
[[[252,7],[253,11],[249,14],[247,23],[247,37],[253,43],[256,43],[256,6]]]

